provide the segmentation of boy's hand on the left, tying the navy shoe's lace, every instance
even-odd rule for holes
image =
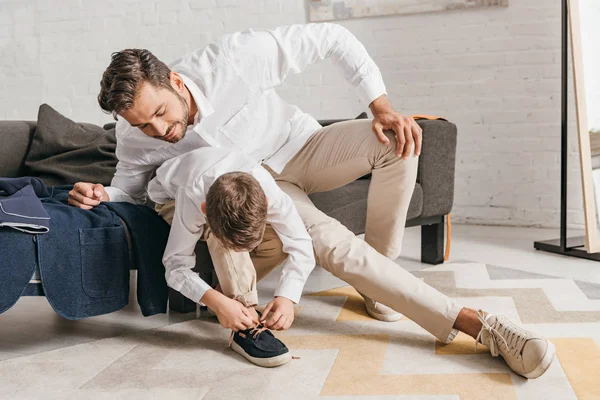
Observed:
[[[200,301],[217,314],[219,323],[226,329],[243,331],[258,324],[258,321],[252,320],[252,313],[242,303],[214,289],[208,290]]]

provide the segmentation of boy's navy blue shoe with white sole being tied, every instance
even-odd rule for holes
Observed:
[[[229,346],[251,363],[261,367],[278,367],[292,359],[286,345],[260,324],[244,331],[232,332]]]

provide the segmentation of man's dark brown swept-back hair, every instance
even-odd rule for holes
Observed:
[[[173,91],[171,70],[146,49],[125,49],[112,53],[111,61],[100,81],[98,103],[106,113],[117,114],[129,109],[142,84]]]

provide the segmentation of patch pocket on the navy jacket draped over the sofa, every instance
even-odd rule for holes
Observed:
[[[122,226],[79,230],[81,281],[90,297],[123,294],[129,283],[129,250]]]

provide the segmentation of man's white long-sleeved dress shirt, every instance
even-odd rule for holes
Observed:
[[[279,173],[321,126],[284,101],[275,88],[289,73],[331,59],[365,104],[386,94],[381,73],[364,46],[331,23],[247,30],[176,60],[196,105],[194,123],[178,143],[146,136],[123,118],[116,126],[117,171],[106,188],[111,201],[143,203],[153,171],[199,147],[241,151]]]

